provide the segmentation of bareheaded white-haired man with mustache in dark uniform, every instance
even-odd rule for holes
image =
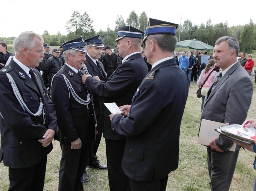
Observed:
[[[24,32],[14,40],[14,50],[15,57],[0,71],[0,161],[9,166],[9,190],[43,191],[57,126],[43,79],[33,69],[44,57],[43,38]]]

